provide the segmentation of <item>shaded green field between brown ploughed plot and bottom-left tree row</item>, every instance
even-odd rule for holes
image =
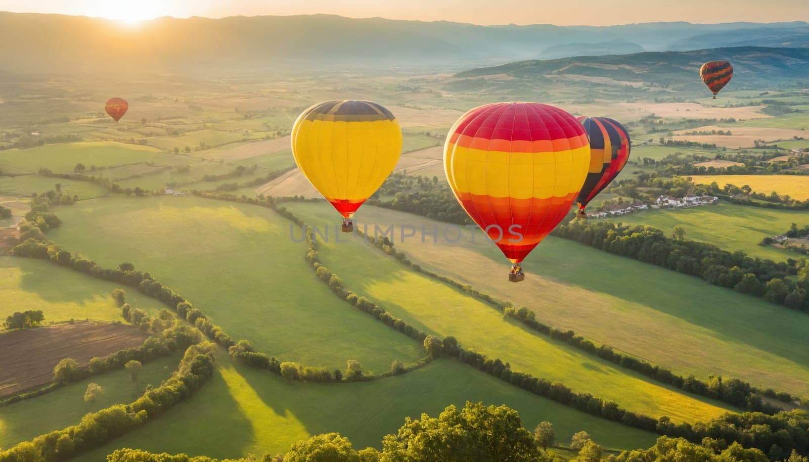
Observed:
[[[29,441],[40,434],[77,424],[87,413],[135,401],[146,390],[146,385],[158,387],[161,380],[176,370],[178,362],[179,355],[146,362],[138,374],[137,382],[133,382],[126,371],[119,369],[2,407],[0,450],[21,441]],[[101,385],[104,394],[95,401],[86,403],[84,392],[87,384],[91,383]]]

